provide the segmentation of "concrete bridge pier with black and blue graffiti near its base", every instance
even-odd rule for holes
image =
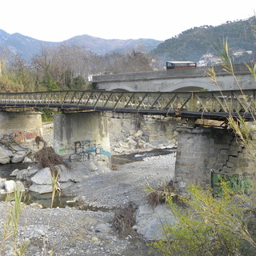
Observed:
[[[106,117],[95,112],[54,114],[54,151],[111,166]]]

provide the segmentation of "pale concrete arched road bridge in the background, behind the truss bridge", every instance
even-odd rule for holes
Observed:
[[[254,89],[255,81],[248,68],[243,64],[234,65],[233,76],[223,70],[222,66],[214,66],[218,86],[207,75],[208,67],[180,70],[158,70],[149,72],[106,74],[93,76],[93,84],[99,90],[126,91],[197,91],[206,90],[243,90]]]

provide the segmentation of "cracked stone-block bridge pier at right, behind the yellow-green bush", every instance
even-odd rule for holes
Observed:
[[[178,130],[174,186],[185,192],[188,184],[216,186],[217,174],[241,180],[254,178],[255,162],[246,158],[230,130],[184,127]]]

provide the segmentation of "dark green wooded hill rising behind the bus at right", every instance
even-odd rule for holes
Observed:
[[[160,43],[153,53],[165,60],[198,62],[203,54],[216,54],[214,44],[219,45],[223,38],[227,38],[233,52],[253,50],[255,54],[255,20],[252,17],[238,22],[226,22],[220,26],[194,27]]]

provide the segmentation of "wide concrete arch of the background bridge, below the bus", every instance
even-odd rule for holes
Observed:
[[[210,80],[210,78],[209,78]],[[200,89],[206,89],[206,90],[218,90],[218,87],[214,85],[214,83],[210,82],[202,82],[200,80],[192,80],[192,81],[182,81],[177,82],[176,84],[167,86],[165,90],[163,91],[174,91],[174,90],[200,90]]]

